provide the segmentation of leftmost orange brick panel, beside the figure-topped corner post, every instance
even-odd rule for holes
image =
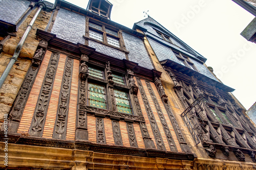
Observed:
[[[35,82],[31,88],[27,104],[24,108],[22,118],[20,119],[20,124],[17,133],[28,133],[31,120],[35,111],[36,101],[42,86],[42,81],[46,74],[46,69],[49,64],[52,52],[47,51],[44,60],[41,63],[40,69],[36,76]]]

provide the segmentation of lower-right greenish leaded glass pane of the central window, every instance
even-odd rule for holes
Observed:
[[[118,112],[132,114],[132,108],[130,105],[128,94],[124,91],[114,90],[116,107]]]

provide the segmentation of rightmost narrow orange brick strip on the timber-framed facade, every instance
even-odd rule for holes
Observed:
[[[168,113],[167,113],[166,110],[165,110],[165,107],[164,107],[164,105],[163,105],[163,102],[162,102],[162,100],[161,100],[161,97],[160,97],[160,95],[159,95],[159,92],[158,92],[158,90],[157,90],[157,88],[156,88],[156,86],[155,86],[154,83],[151,82],[150,84],[151,84],[151,87],[152,87],[152,89],[153,89],[153,91],[154,91],[154,93],[155,93],[155,95],[156,95],[157,101],[158,101],[158,103],[159,103],[159,105],[160,105],[160,107],[161,107],[161,109],[162,109],[162,112],[163,112],[163,115],[164,115],[164,117],[165,117],[167,126],[169,127],[170,133],[171,133],[172,136],[173,136],[173,139],[174,139],[174,142],[175,142],[175,144],[176,144],[177,150],[178,150],[178,152],[182,152],[182,150],[181,150],[181,148],[180,148],[180,143],[179,143],[179,141],[178,141],[178,138],[177,138],[177,136],[176,136],[176,133],[175,133],[175,131],[174,131],[174,128],[173,128],[173,126],[172,126],[172,123],[170,122]]]

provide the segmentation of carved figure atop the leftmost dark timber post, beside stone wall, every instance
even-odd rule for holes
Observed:
[[[32,65],[38,67],[41,64],[42,59],[44,59],[48,42],[46,40],[40,40],[37,50],[35,51],[34,57],[32,58]]]

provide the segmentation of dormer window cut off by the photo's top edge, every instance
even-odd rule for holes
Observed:
[[[110,2],[105,0],[90,0],[87,10],[104,18],[110,19],[112,6],[113,5]]]

